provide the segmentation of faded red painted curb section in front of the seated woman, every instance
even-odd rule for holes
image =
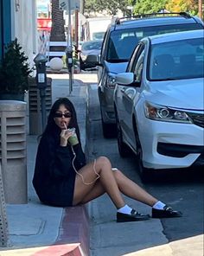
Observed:
[[[89,236],[86,206],[64,208],[55,244],[32,256],[89,256]]]

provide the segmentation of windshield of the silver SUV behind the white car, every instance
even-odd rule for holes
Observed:
[[[143,37],[150,35],[161,35],[164,33],[202,29],[201,25],[195,24],[171,24],[133,29],[114,30],[111,33],[107,46],[106,61],[120,62],[129,61],[134,48]]]

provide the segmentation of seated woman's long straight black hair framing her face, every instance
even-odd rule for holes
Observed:
[[[80,129],[79,129],[79,125],[77,122],[77,114],[76,114],[75,108],[73,106],[73,103],[67,98],[60,98],[54,102],[54,105],[52,106],[52,108],[49,112],[49,115],[48,115],[48,124],[45,128],[45,131],[43,131],[42,136],[47,135],[47,134],[52,134],[57,131],[59,133],[61,132],[60,127],[58,127],[58,125],[56,125],[54,122],[54,114],[55,114],[55,112],[57,112],[59,110],[61,105],[64,105],[67,108],[67,110],[69,112],[71,112],[72,118],[71,118],[67,128],[75,128],[77,137],[80,142]]]

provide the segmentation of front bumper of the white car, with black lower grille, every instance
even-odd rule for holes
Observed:
[[[139,134],[143,166],[151,169],[187,168],[204,164],[203,128],[193,124],[144,118]]]

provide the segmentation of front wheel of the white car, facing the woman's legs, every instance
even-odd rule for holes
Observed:
[[[152,174],[148,168],[143,167],[143,149],[139,140],[139,135],[137,128],[135,127],[135,138],[136,138],[136,145],[137,145],[137,167],[139,170],[139,175],[143,183],[150,182]]]

